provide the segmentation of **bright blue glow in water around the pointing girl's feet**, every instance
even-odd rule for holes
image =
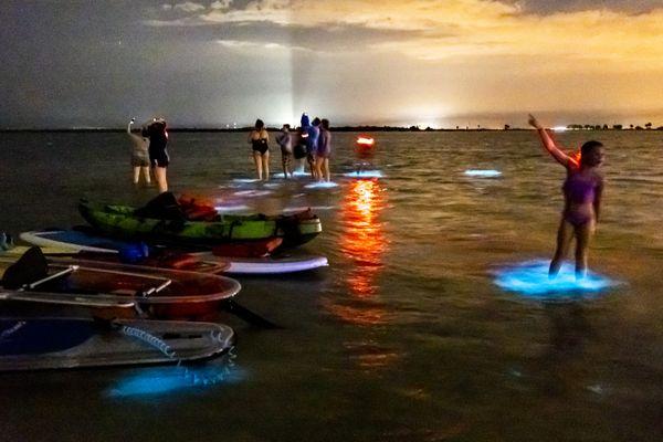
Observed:
[[[597,297],[619,282],[593,272],[576,278],[575,265],[564,263],[555,278],[548,277],[549,261],[527,261],[495,272],[495,284],[522,296],[543,299],[582,299]]]

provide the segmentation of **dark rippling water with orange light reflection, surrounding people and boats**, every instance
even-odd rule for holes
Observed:
[[[335,134],[334,172],[350,166],[355,135]],[[661,133],[591,135],[608,148],[608,187],[590,266],[622,284],[548,304],[493,282],[496,269],[552,252],[565,172],[534,134],[377,134],[386,177],[336,176],[333,189],[233,181],[252,177],[245,135],[173,134],[173,190],[272,213],[314,207],[325,231],[305,249],[330,267],[241,278],[238,301],[284,328],[223,317],[239,335],[235,358],[198,377],[1,375],[0,439],[661,440]],[[577,147],[587,136],[558,138]],[[0,147],[6,231],[78,224],[82,196],[155,193],[131,186],[123,134],[2,134]],[[180,388],[134,394],[164,378]]]

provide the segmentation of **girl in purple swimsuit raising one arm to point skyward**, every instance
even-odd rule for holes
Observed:
[[[599,141],[587,141],[580,149],[580,158],[570,157],[557,147],[534,116],[529,115],[528,123],[536,128],[546,150],[567,169],[567,178],[562,186],[565,204],[557,231],[557,249],[548,275],[557,276],[570,242],[576,236],[576,277],[582,278],[587,273],[589,242],[601,211],[603,176],[599,168],[603,162],[603,145]]]

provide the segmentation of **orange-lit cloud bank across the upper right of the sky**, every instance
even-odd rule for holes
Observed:
[[[655,6],[654,1],[636,3],[641,9]],[[194,15],[147,24],[228,29],[252,23],[309,29],[327,38],[328,48],[335,43],[334,31],[341,35],[362,29],[381,32],[381,39],[368,42],[358,38],[358,48],[370,44],[376,52],[429,62],[540,56],[543,64],[559,63],[558,70],[578,69],[579,62],[591,63],[588,69],[597,69],[596,62],[620,69],[663,69],[663,8],[633,13],[620,11],[615,1],[590,0],[565,0],[561,12],[545,9],[548,3],[541,0],[382,0],[379,8],[373,0],[212,4],[204,11],[197,9]]]

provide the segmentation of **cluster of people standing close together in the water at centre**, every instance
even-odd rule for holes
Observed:
[[[291,126],[284,124],[275,141],[281,148],[284,178],[292,178],[295,170],[304,171],[304,161],[307,161],[314,180],[330,181],[332,131],[328,119],[316,117],[312,122],[304,113],[301,126],[296,130],[291,130]],[[255,120],[255,128],[249,134],[249,144],[251,144],[257,179],[269,180],[270,134],[262,119]]]

